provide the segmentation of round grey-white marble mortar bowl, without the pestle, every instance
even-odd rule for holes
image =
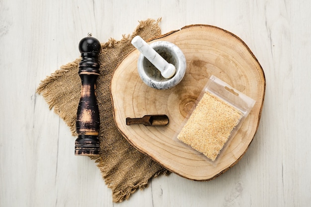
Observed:
[[[154,42],[150,46],[168,63],[174,65],[176,72],[171,78],[164,78],[161,72],[141,54],[137,68],[143,82],[156,89],[168,89],[177,85],[186,72],[186,58],[182,51],[173,43],[166,41]]]

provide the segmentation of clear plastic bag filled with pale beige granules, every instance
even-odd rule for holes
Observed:
[[[255,100],[212,75],[176,137],[215,162],[254,104]]]

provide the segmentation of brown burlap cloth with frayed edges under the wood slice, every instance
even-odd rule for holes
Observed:
[[[113,120],[110,99],[110,81],[118,64],[133,50],[131,40],[136,35],[152,39],[161,34],[160,19],[140,21],[130,35],[116,41],[109,39],[101,44],[99,54],[100,75],[97,79],[96,94],[100,113],[100,155],[95,158],[102,177],[112,190],[113,202],[128,199],[137,189],[143,189],[148,181],[159,174],[169,173],[149,156],[135,149],[118,131]],[[78,50],[78,43],[77,43]],[[76,117],[80,98],[81,80],[78,76],[80,58],[62,66],[41,81],[37,92],[42,94],[49,108],[54,108],[76,136]],[[73,146],[74,156],[74,146]]]

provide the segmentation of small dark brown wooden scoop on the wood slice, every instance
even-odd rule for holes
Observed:
[[[142,118],[126,118],[126,125],[143,124],[145,126],[164,126],[168,124],[166,115],[145,115]]]

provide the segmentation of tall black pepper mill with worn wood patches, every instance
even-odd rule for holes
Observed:
[[[99,154],[99,110],[95,95],[95,82],[99,75],[98,54],[100,42],[88,33],[79,42],[81,61],[79,63],[79,76],[81,78],[81,97],[77,111],[76,128],[78,138],[75,143],[76,155]]]

